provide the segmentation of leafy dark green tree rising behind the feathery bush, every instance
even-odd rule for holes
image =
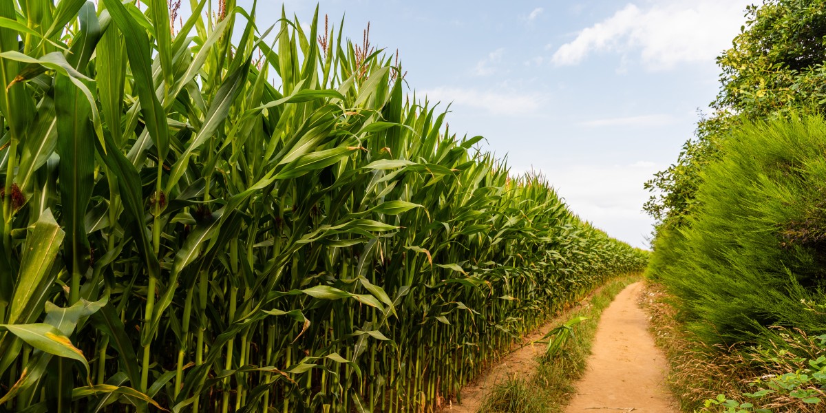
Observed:
[[[682,225],[691,213],[700,171],[733,128],[826,108],[826,1],[764,0],[747,7],[746,17],[732,48],[717,59],[714,113],[700,120],[676,163],[646,183],[655,193],[644,209],[666,227]]]

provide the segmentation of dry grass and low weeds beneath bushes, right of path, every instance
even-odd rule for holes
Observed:
[[[681,411],[824,411],[823,403],[813,399],[824,396],[821,364],[826,360],[819,359],[826,354],[823,336],[773,329],[769,345],[708,345],[686,330],[676,310],[678,298],[662,284],[646,280],[644,294],[643,307],[652,316],[655,342],[670,364],[668,385]],[[769,392],[751,396],[762,390]],[[729,410],[711,400],[738,407]],[[752,407],[739,407],[743,404]]]

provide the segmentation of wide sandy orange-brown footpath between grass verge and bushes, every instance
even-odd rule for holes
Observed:
[[[640,282],[625,287],[602,313],[585,376],[566,413],[678,411],[665,387],[666,358],[637,304],[641,291]]]

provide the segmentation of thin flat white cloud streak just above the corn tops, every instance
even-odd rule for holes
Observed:
[[[494,92],[467,88],[439,87],[422,91],[430,102],[453,102],[454,105],[484,109],[491,114],[520,116],[535,114],[545,97],[536,93]]]

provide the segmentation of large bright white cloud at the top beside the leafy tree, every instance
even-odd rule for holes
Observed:
[[[639,54],[648,70],[714,61],[731,45],[752,0],[663,0],[651,6],[629,3],[604,21],[586,27],[553,54],[558,66],[579,64],[593,52]]]

